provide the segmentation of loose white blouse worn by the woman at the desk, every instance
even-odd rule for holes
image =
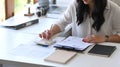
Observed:
[[[108,0],[106,9],[104,11],[105,22],[101,26],[99,32],[96,32],[92,28],[94,20],[91,17],[87,17],[79,26],[76,23],[76,0],[68,7],[63,17],[58,21],[57,25],[61,31],[64,31],[65,27],[72,23],[72,35],[78,37],[86,37],[90,34],[97,35],[112,35],[120,33],[120,6]]]

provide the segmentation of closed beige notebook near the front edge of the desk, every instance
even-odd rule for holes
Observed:
[[[66,51],[66,50],[56,50],[55,52],[50,54],[48,57],[46,57],[44,60],[65,64],[69,60],[71,60],[76,54],[77,52]]]

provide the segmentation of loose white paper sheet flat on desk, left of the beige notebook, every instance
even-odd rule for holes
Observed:
[[[21,44],[10,51],[10,54],[29,57],[29,58],[44,58],[53,52],[54,49],[51,47],[42,47],[36,44]]]

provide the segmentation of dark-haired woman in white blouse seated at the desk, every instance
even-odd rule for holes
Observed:
[[[72,35],[84,42],[120,42],[120,7],[110,0],[75,0],[60,21],[39,34],[49,39],[72,23]]]

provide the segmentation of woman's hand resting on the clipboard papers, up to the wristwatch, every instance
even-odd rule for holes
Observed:
[[[89,35],[86,38],[83,38],[83,41],[88,43],[102,43],[105,42],[105,36]]]

